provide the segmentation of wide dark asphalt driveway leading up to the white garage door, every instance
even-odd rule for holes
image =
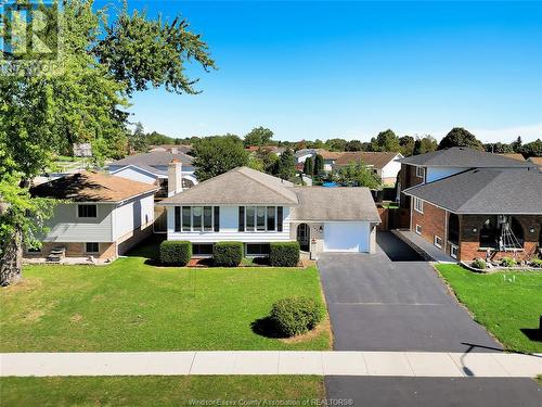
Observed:
[[[376,254],[318,262],[338,351],[485,352],[501,346],[452,297],[433,267],[389,232]]]

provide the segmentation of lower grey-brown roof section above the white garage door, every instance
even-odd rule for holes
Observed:
[[[299,199],[292,218],[295,220],[365,220],[380,222],[369,188],[296,187]]]

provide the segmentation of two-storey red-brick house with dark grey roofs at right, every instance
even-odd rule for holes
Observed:
[[[457,260],[532,257],[541,244],[542,174],[468,148],[401,160],[410,229]]]

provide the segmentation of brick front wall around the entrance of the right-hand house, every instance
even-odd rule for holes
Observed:
[[[479,238],[482,224],[489,215],[462,215],[460,258],[473,260],[477,257],[486,258],[486,251],[480,251]],[[515,215],[514,216],[524,230],[524,251],[516,253],[517,259],[529,259],[534,256],[539,247],[540,232],[542,228],[542,215]],[[473,230],[476,228],[476,232]],[[531,233],[529,229],[533,229]],[[491,259],[513,257],[513,252],[492,252]]]

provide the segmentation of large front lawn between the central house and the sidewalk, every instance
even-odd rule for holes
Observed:
[[[282,297],[321,302],[314,267],[159,268],[129,257],[27,266],[24,278],[0,289],[0,352],[331,348],[328,323],[294,341],[251,327]]]

